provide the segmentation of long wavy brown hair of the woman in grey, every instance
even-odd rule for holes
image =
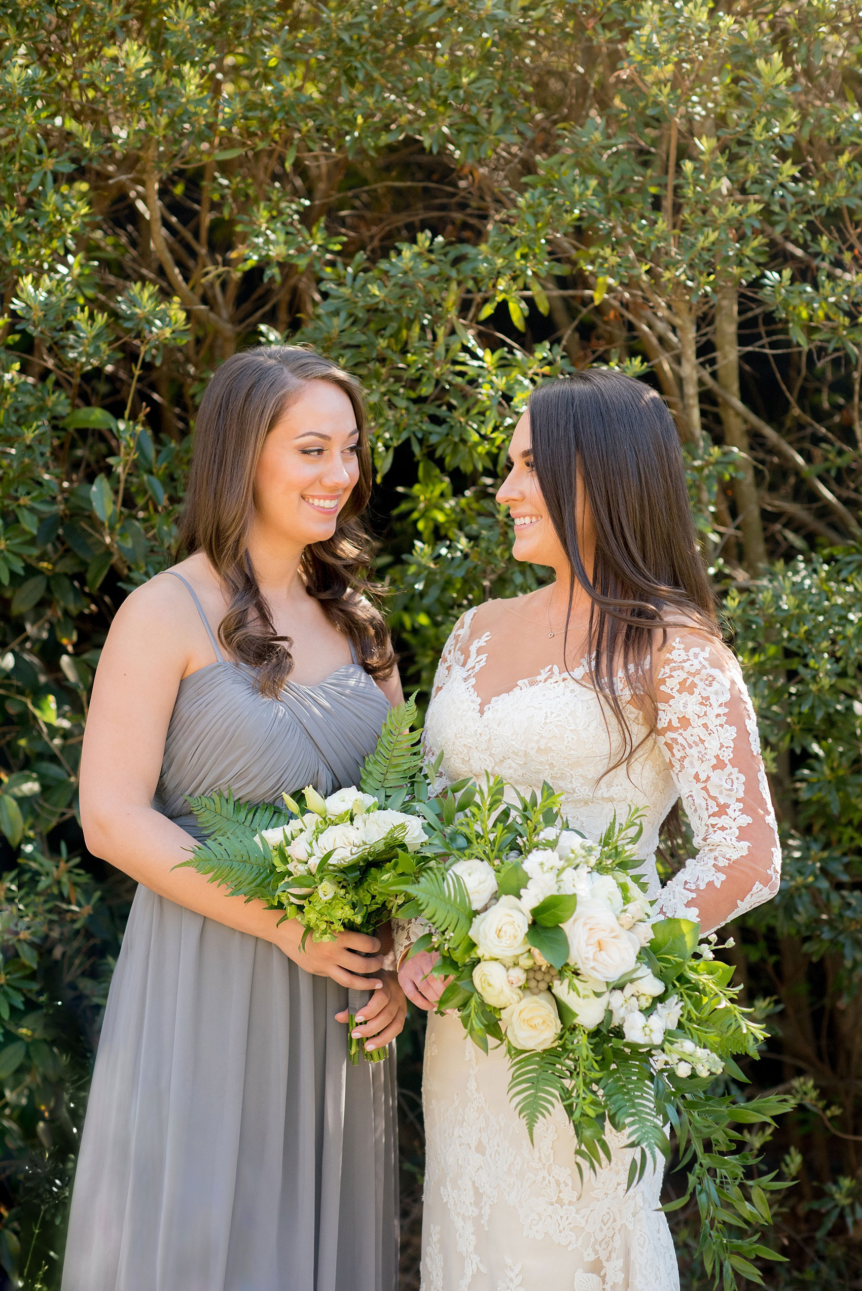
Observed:
[[[379,589],[368,581],[372,541],[359,519],[372,493],[363,387],[314,350],[289,345],[244,350],[221,365],[204,391],[177,549],[203,551],[209,559],[230,598],[218,639],[232,658],[258,670],[261,691],[272,697],[293,669],[293,643],[276,634],[248,553],[254,475],[266,436],[308,381],[329,381],[350,399],[359,430],[359,480],[333,536],[302,553],[302,576],[370,676],[390,676],[396,662],[386,624],[366,599]]]

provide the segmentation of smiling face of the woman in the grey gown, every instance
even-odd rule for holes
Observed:
[[[359,480],[359,430],[350,399],[308,381],[267,435],[254,474],[258,537],[301,547],[336,532]]]

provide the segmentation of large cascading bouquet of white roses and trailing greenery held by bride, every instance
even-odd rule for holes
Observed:
[[[434,972],[450,980],[439,1012],[456,1010],[485,1052],[505,1046],[530,1139],[559,1106],[578,1170],[596,1168],[610,1159],[609,1123],[634,1149],[631,1186],[648,1161],[670,1157],[672,1128],[689,1171],[674,1208],[697,1195],[707,1272],[728,1286],[734,1270],[759,1281],[751,1257],[767,1248],[738,1229],[769,1223],[765,1194],[785,1184],[750,1181],[746,1199],[756,1158],[737,1150],[733,1122],[773,1124],[792,1100],[739,1099],[733,1055],[755,1057],[765,1029],[736,1002],[715,935],[661,918],[648,899],[639,812],[588,839],[566,826],[548,785],[524,798],[492,777],[413,809],[436,861],[405,883],[401,917],[430,927],[410,953],[440,955]]]

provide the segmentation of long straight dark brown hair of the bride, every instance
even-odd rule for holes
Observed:
[[[529,416],[533,467],[569,562],[569,612],[576,580],[590,596],[590,682],[619,728],[618,767],[656,731],[653,652],[668,627],[696,624],[720,636],[679,436],[656,390],[608,369],[539,386]],[[595,524],[592,577],[578,545],[579,489]],[[646,722],[637,742],[621,676]]]

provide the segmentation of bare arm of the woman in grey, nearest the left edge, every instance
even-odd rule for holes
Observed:
[[[95,673],[81,751],[86,846],[159,896],[271,941],[307,972],[342,986],[374,986],[361,973],[378,972],[382,958],[357,951],[377,951],[377,937],[346,932],[332,942],[308,939],[301,951],[296,919],[279,924],[279,913],[262,901],[228,897],[203,874],[174,869],[188,859],[194,840],[155,811],[152,799],[179,682],[212,662],[201,638],[194,604],[175,578],[138,587],[120,607]]]

